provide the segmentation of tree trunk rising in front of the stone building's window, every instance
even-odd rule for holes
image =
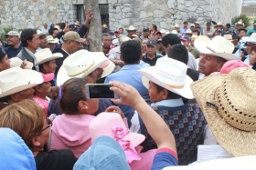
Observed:
[[[90,9],[93,15],[89,27],[89,34],[87,39],[90,43],[91,52],[102,52],[102,28],[101,28],[101,15],[98,0],[84,0],[85,11]]]

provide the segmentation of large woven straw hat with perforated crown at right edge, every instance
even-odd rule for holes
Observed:
[[[256,72],[241,67],[191,85],[208,125],[230,155],[256,155]]]

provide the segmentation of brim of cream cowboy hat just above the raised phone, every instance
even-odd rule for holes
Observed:
[[[75,78],[75,77],[80,78],[80,77],[84,77],[86,75],[90,75],[91,72],[93,72],[96,68],[98,68],[104,62],[106,62],[108,60],[108,58],[107,57],[102,58],[102,57],[95,56],[95,57],[93,57],[93,60],[94,60],[94,64],[91,66],[91,68],[87,72],[81,73],[80,75],[76,75],[76,76],[69,76],[64,65],[61,65],[59,68],[58,75],[57,75],[57,85],[63,85],[70,78]]]

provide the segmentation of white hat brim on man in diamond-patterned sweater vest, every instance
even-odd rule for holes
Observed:
[[[177,94],[181,95],[187,99],[192,99],[195,98],[190,85],[194,82],[188,75],[186,75],[185,78],[185,84],[183,88],[172,88],[165,83],[161,82],[161,76],[155,74],[155,66],[150,66],[150,67],[144,67],[139,70],[139,73],[144,75],[142,82],[143,85],[148,89],[149,88],[149,81],[154,82],[156,85],[160,85],[164,87],[165,89]]]

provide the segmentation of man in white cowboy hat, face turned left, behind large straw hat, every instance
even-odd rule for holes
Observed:
[[[234,45],[222,36],[215,36],[210,40],[207,36],[200,35],[194,45],[201,52],[198,71],[205,76],[219,72],[222,65],[229,60],[239,60],[232,54]]]

